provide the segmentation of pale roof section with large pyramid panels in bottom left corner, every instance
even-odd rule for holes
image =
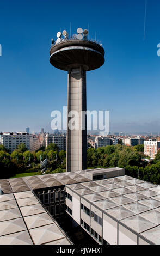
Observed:
[[[0,245],[70,245],[32,191],[0,196]]]

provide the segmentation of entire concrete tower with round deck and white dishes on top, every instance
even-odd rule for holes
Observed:
[[[70,111],[78,112],[75,120],[78,129],[67,125],[67,172],[87,169],[87,111],[86,71],[100,68],[104,64],[104,49],[96,41],[88,40],[87,29],[78,28],[77,34],[69,38],[66,31],[57,33],[57,40],[50,49],[50,63],[68,73],[67,78],[67,124],[72,119]],[[73,112],[72,112],[73,113]],[[75,126],[77,127],[77,126]],[[83,129],[82,129],[83,127]]]

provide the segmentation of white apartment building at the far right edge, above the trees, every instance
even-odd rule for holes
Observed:
[[[159,148],[160,141],[152,141],[152,139],[149,139],[149,141],[144,141],[144,154],[146,156],[150,156],[151,159],[155,158]]]

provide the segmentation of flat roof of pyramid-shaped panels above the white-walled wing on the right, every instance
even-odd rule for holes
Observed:
[[[160,186],[124,175],[66,187],[128,230],[160,244]]]

